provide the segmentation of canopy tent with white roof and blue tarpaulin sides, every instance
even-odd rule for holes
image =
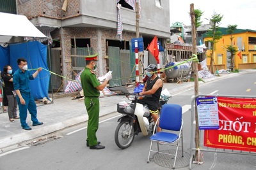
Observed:
[[[24,41],[10,43],[10,39],[15,37],[22,38],[47,38],[33,25],[26,16],[14,15],[9,13],[0,13],[0,43],[6,43],[8,46],[0,45],[0,69],[3,71],[5,65],[11,65],[13,72],[19,69],[17,59],[24,57],[28,61],[29,69],[38,67],[47,67],[47,46],[38,41]],[[35,71],[33,71],[34,73]],[[31,72],[31,74],[33,74]],[[48,71],[42,71],[38,74],[36,80],[31,81],[31,94],[34,99],[48,97],[50,74]]]

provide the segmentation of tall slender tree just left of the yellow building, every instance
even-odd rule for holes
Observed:
[[[223,15],[218,14],[216,12],[213,13],[212,18],[210,19],[211,27],[205,33],[207,37],[212,38],[210,41],[212,43],[212,55],[211,55],[211,62],[210,62],[210,71],[213,74],[213,63],[214,63],[214,50],[216,46],[216,42],[222,37],[221,31],[219,31],[219,24],[223,18]]]

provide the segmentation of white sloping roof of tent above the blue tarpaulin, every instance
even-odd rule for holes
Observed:
[[[47,38],[26,16],[0,12],[0,43],[7,43],[12,36]]]

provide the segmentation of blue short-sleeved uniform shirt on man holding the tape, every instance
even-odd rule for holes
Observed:
[[[34,80],[32,74],[29,74],[27,70],[23,73],[21,69],[18,69],[13,74],[13,87],[14,90],[20,90],[20,92],[30,92],[30,82],[29,80]]]

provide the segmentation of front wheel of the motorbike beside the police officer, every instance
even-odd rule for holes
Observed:
[[[129,134],[130,130],[131,134]],[[131,146],[133,139],[134,127],[129,124],[129,121],[120,122],[115,131],[116,145],[121,149],[128,148]]]

